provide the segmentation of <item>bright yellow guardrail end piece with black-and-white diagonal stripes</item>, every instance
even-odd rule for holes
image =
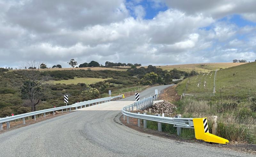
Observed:
[[[227,139],[209,133],[207,118],[193,118],[193,123],[196,139],[220,144],[229,143]]]

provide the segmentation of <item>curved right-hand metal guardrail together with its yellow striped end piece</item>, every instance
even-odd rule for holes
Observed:
[[[220,144],[227,144],[229,142],[227,139],[209,133],[207,118],[175,118],[131,112],[133,110],[145,110],[146,108],[151,107],[154,103],[154,100],[156,100],[156,97],[148,97],[143,100],[136,101],[131,105],[125,106],[122,109],[124,120],[125,116],[127,116],[127,123],[129,123],[129,117],[132,117],[137,119],[154,121],[158,123],[173,124],[174,127],[195,129],[196,139],[202,139],[206,142]],[[140,124],[138,124],[138,126],[140,126]]]

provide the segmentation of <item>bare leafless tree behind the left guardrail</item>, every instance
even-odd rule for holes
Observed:
[[[32,111],[36,111],[36,105],[47,96],[50,84],[48,81],[51,77],[48,72],[39,71],[40,65],[34,61],[27,62],[26,66],[20,68],[19,73],[22,75],[20,81],[15,82],[16,86],[20,89],[20,97],[29,101],[29,106]]]

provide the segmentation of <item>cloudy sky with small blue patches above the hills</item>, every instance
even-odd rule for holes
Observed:
[[[0,0],[0,67],[256,59],[255,0]]]

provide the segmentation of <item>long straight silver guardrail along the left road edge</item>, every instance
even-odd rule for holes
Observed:
[[[28,117],[28,116],[36,116],[36,115],[39,115],[39,114],[44,114],[44,117],[45,117],[45,113],[47,113],[47,112],[54,112],[54,111],[57,111],[57,110],[62,110],[63,111],[63,109],[66,109],[66,108],[69,108],[69,111],[71,112],[71,108],[76,108],[76,109],[77,109],[77,107],[82,108],[82,106],[85,106],[85,105],[90,105],[90,104],[94,104],[94,103],[97,104],[97,103],[100,103],[100,102],[103,102],[103,101],[107,102],[107,101],[110,101],[112,99],[120,98],[120,97],[123,97],[123,95],[107,97],[107,98],[100,98],[100,99],[94,99],[94,100],[89,100],[89,101],[83,101],[83,102],[78,102],[78,103],[68,105],[68,106],[62,106],[62,107],[57,107],[57,108],[49,108],[49,109],[24,113],[24,114],[20,114],[20,115],[4,117],[4,118],[0,118],[0,124],[2,126],[2,123],[5,123],[5,122],[10,122],[10,121],[25,118],[25,117]],[[25,123],[24,121],[25,121],[25,119],[23,119],[23,123]]]

